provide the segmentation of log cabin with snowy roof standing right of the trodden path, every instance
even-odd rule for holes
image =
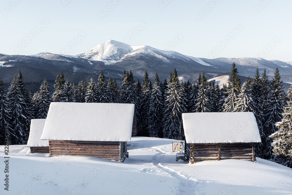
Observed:
[[[261,142],[252,112],[183,113],[182,137],[191,163],[205,160],[255,161],[254,143]]]

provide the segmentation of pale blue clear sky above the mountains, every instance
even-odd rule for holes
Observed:
[[[113,39],[202,58],[292,60],[291,0],[2,0],[0,8],[2,54],[76,55]]]

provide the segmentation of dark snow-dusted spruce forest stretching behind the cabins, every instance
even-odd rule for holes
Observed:
[[[292,85],[284,93],[278,68],[269,81],[266,71],[258,69],[251,79],[242,82],[232,64],[228,85],[208,83],[202,73],[196,83],[179,80],[177,71],[168,80],[154,82],[145,72],[142,84],[135,82],[130,71],[124,71],[121,86],[115,79],[105,80],[101,72],[97,81],[81,80],[76,86],[63,73],[55,80],[49,93],[46,78],[38,92],[31,94],[23,84],[19,71],[6,93],[0,77],[0,145],[4,145],[5,130],[10,144],[26,144],[30,120],[46,118],[51,102],[134,103],[137,136],[182,139],[182,113],[190,112],[253,112],[262,143],[256,145],[256,156],[292,168]]]

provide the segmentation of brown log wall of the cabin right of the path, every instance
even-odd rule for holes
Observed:
[[[190,144],[190,162],[242,159],[255,161],[253,143]]]

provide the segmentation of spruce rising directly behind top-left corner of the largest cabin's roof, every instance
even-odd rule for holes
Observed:
[[[54,84],[54,92],[53,92],[53,96],[52,99],[55,102],[65,102],[66,101],[66,97],[65,97],[65,93],[64,93],[64,75],[63,73],[61,73],[61,75],[59,74],[55,80]]]

